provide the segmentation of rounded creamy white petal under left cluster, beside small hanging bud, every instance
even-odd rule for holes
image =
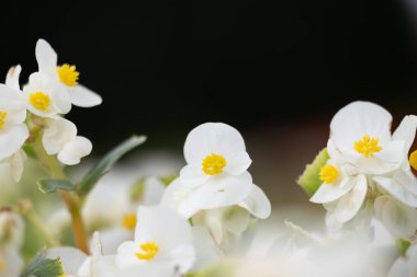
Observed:
[[[42,137],[42,143],[48,154],[56,154],[76,136],[77,127],[70,120],[65,118],[49,119]]]

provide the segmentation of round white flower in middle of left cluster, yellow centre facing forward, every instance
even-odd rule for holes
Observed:
[[[58,118],[71,109],[68,93],[47,74],[32,73],[23,86],[27,109],[41,117]]]

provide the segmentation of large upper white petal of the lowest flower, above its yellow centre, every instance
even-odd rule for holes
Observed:
[[[176,211],[158,206],[140,206],[137,211],[135,241],[155,241],[167,251],[192,242],[188,220]],[[167,235],[169,230],[169,235]]]

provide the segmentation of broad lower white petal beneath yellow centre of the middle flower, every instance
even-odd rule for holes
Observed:
[[[250,194],[252,187],[249,173],[237,177],[219,176],[194,188],[189,195],[189,200],[192,206],[200,209],[232,206],[243,201]]]

